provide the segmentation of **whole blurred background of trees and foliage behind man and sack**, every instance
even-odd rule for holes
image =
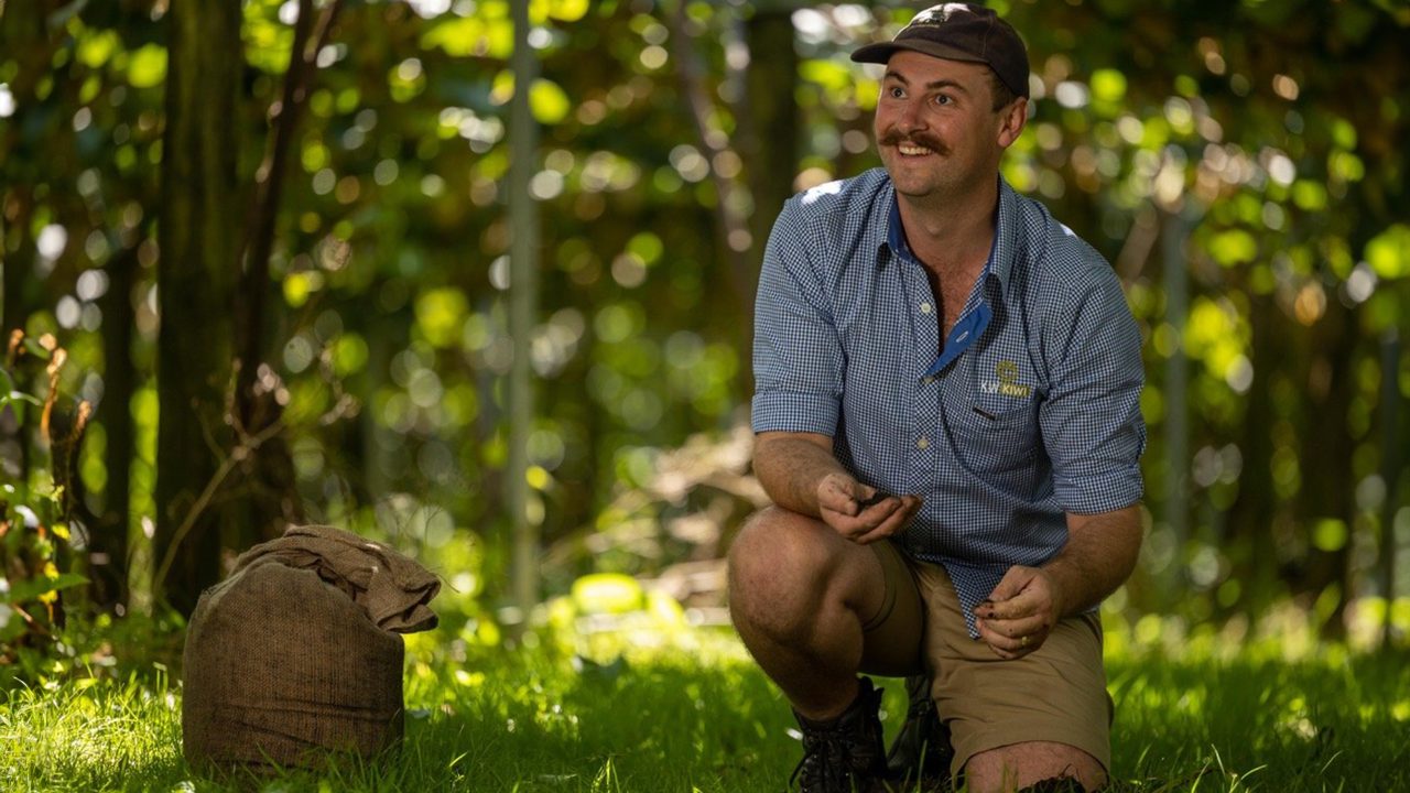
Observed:
[[[1403,638],[1410,7],[990,4],[1032,62],[1005,178],[1107,255],[1146,340],[1151,529],[1114,605],[1296,603],[1331,634],[1356,608]],[[877,165],[878,75],[847,54],[918,6],[533,1],[526,86],[506,0],[237,6],[0,0],[0,316],[68,358],[54,385],[7,364],[6,542],[61,456],[34,404],[86,402],[66,516],[31,509],[72,529],[70,611],[189,611],[289,521],[508,604],[522,87],[543,591],[611,570],[718,605],[760,500],[764,238],[794,190]],[[0,600],[44,576],[21,557]]]

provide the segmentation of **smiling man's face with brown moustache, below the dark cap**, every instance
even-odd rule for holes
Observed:
[[[900,51],[877,100],[877,151],[908,198],[955,198],[993,179],[1012,143],[993,110],[988,66]]]

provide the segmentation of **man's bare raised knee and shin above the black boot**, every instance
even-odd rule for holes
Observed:
[[[862,625],[884,598],[881,563],[822,521],[771,507],[729,550],[729,608],[744,646],[794,708],[840,714],[857,693]]]

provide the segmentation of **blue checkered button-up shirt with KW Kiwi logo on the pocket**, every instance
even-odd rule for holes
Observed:
[[[784,205],[754,320],[754,432],[811,432],[857,480],[925,505],[898,535],[974,607],[1135,504],[1141,336],[1111,267],[1000,181],[983,275],[945,344],[883,169]],[[936,354],[938,353],[938,354]]]

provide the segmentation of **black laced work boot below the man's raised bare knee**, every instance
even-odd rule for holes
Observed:
[[[799,793],[887,790],[880,707],[881,691],[863,677],[857,698],[833,720],[812,721],[794,711],[802,728],[804,755],[790,783],[797,782]]]

